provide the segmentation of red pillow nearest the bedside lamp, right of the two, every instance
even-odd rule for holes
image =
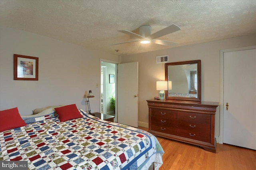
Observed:
[[[83,117],[78,111],[76,104],[54,108],[59,115],[60,121],[65,122],[71,119]]]

